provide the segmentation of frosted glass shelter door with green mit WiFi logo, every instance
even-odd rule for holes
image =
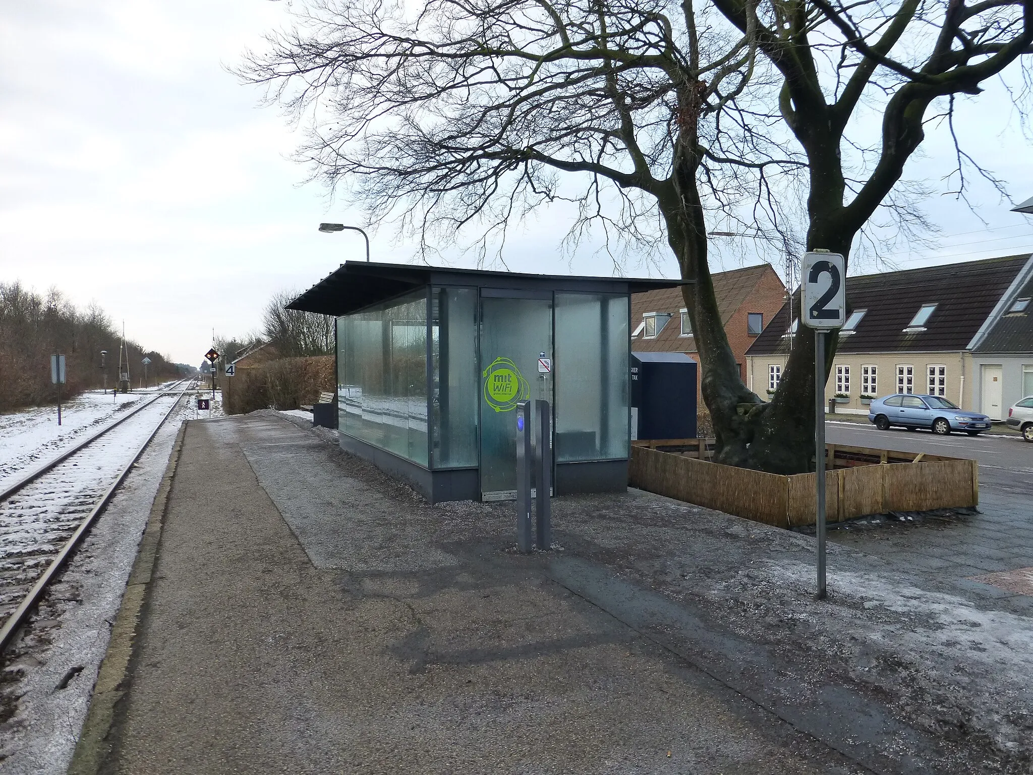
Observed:
[[[553,302],[481,299],[480,491],[484,500],[516,496],[516,403],[553,404],[553,375],[538,358],[553,358]]]

